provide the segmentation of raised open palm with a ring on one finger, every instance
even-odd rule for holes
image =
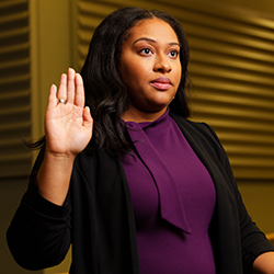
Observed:
[[[45,115],[46,151],[78,155],[92,137],[93,119],[84,107],[83,81],[73,69],[61,75],[59,89],[52,85]]]

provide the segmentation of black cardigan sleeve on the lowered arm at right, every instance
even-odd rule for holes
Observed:
[[[251,269],[252,269],[254,260],[264,252],[274,251],[274,247],[266,239],[265,235],[259,229],[259,227],[255,225],[255,222],[252,220],[252,218],[248,214],[248,210],[242,202],[241,194],[238,190],[237,182],[233,176],[226,151],[222,148],[215,132],[208,125],[206,125],[206,127],[210,130],[214,138],[219,144],[220,149],[218,151],[219,153],[218,157],[231,183],[230,187],[232,189],[232,192],[237,202],[237,207],[238,207],[243,273],[251,273]]]

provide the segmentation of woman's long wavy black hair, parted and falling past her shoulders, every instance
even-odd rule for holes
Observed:
[[[111,148],[126,151],[129,148],[121,126],[121,114],[128,110],[130,100],[118,73],[122,46],[130,30],[140,21],[158,18],[165,21],[175,32],[182,66],[181,83],[170,104],[170,111],[184,117],[190,116],[186,96],[190,59],[189,44],[181,24],[167,12],[127,7],[114,11],[96,27],[89,53],[81,70],[84,83],[85,104],[91,109],[94,121],[93,149]]]

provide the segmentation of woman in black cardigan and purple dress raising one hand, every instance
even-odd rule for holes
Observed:
[[[50,88],[8,230],[19,264],[56,265],[72,243],[70,273],[274,273],[219,140],[186,119],[187,64],[164,12],[125,8],[100,24],[82,78],[69,69]]]

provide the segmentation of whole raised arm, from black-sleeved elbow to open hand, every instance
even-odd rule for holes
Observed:
[[[65,99],[66,103],[58,102]],[[92,135],[89,109],[83,109],[83,83],[69,69],[59,90],[50,88],[43,147],[12,222],[8,244],[15,261],[39,270],[60,263],[70,246],[70,176],[76,156]]]

